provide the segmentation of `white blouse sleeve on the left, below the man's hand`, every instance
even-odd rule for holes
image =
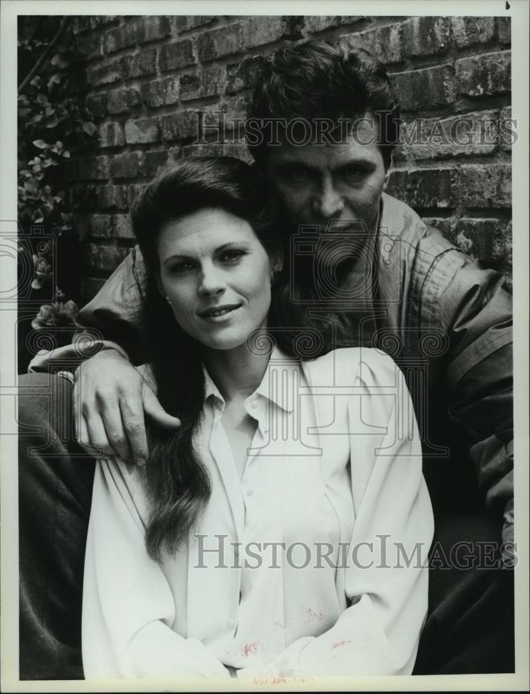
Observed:
[[[174,598],[147,555],[142,495],[131,493],[140,484],[130,467],[103,459],[94,477],[83,585],[85,677],[229,677],[201,641],[171,628]]]

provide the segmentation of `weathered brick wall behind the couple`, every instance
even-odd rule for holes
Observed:
[[[231,133],[223,145],[193,144],[195,112],[244,117],[260,56],[312,36],[349,37],[388,65],[408,134],[388,192],[509,273],[511,154],[502,125],[511,117],[509,19],[106,16],[78,17],[74,31],[100,134],[99,151],[68,171],[74,196],[94,187],[92,212],[78,219],[83,298],[133,245],[129,205],[165,164],[192,152],[249,160]],[[455,146],[447,137],[463,116],[474,125]],[[428,145],[415,144],[414,128],[431,133]]]

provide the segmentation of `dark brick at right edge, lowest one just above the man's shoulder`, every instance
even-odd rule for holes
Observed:
[[[455,242],[467,253],[486,264],[511,262],[511,229],[499,219],[458,219]]]

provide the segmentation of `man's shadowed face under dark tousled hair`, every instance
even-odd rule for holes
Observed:
[[[342,144],[270,147],[267,177],[291,223],[324,232],[330,221],[342,230],[361,222],[373,232],[386,176],[376,142],[377,126],[367,117]]]

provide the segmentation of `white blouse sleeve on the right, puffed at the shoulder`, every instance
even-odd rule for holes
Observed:
[[[344,350],[345,352],[347,350]],[[349,607],[320,636],[293,642],[264,672],[239,677],[410,675],[427,616],[433,514],[404,376],[363,352],[349,399],[354,532],[345,589]]]

